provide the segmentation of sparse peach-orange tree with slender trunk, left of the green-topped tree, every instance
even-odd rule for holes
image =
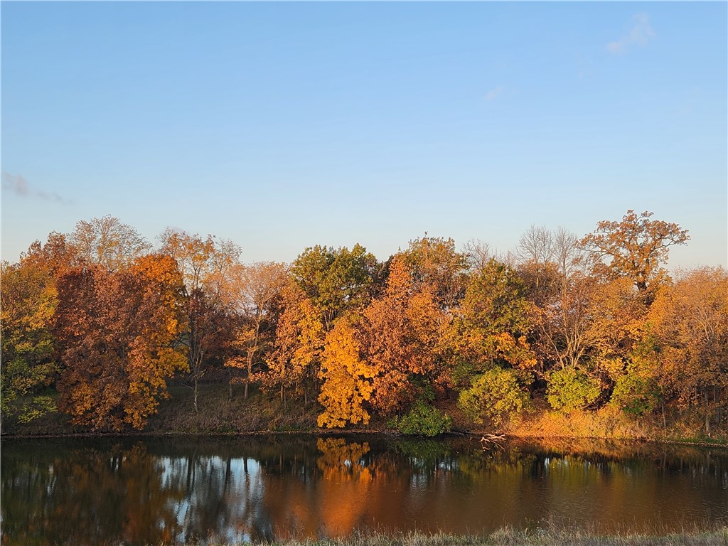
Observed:
[[[281,292],[288,282],[283,264],[260,262],[234,264],[229,274],[226,297],[235,316],[234,341],[236,352],[225,361],[231,368],[244,368],[245,394],[253,378],[253,366],[261,362],[264,352],[275,341],[275,326],[281,303]]]

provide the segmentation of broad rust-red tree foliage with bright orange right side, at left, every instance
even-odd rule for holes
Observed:
[[[71,269],[58,282],[56,337],[65,370],[60,408],[94,429],[141,429],[167,395],[165,379],[185,367],[175,293],[183,289],[168,256],[130,269]]]

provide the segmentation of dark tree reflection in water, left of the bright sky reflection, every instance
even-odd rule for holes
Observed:
[[[142,443],[2,459],[3,543],[7,545],[169,542],[172,506],[162,465]]]

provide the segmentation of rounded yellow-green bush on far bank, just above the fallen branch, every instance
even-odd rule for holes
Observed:
[[[518,385],[515,370],[494,368],[472,381],[470,389],[460,393],[458,406],[476,423],[488,419],[501,427],[529,405],[529,394]]]

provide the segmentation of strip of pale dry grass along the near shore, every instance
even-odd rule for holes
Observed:
[[[232,546],[222,543],[220,546]],[[665,534],[598,535],[589,531],[501,529],[492,534],[358,534],[344,539],[284,540],[281,546],[727,546],[728,528]]]

